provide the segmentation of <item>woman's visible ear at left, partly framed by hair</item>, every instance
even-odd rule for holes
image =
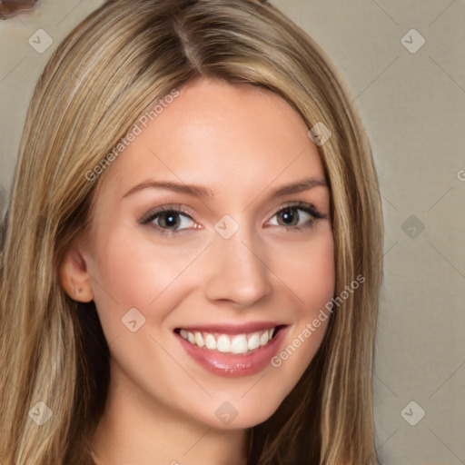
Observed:
[[[65,252],[59,266],[60,282],[74,301],[91,302],[94,300],[94,291],[80,247],[80,243],[76,241]]]

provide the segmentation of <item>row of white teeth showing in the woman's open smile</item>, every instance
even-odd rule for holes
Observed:
[[[275,326],[268,330],[223,334],[221,332],[189,331],[178,328],[178,333],[185,341],[207,351],[247,355],[267,346],[284,326]]]

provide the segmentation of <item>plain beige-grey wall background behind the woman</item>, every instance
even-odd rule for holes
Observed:
[[[42,0],[35,12],[0,22],[2,212],[35,81],[64,35],[101,3]],[[465,3],[274,5],[341,70],[380,176],[385,279],[374,375],[381,461],[465,464]],[[426,41],[416,53],[401,43],[412,28]],[[28,43],[37,29],[54,41],[42,54]],[[416,48],[420,36],[409,33],[403,43]],[[411,426],[420,409],[424,418]]]

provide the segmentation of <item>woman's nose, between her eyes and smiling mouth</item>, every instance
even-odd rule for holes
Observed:
[[[271,271],[262,255],[260,244],[242,228],[229,239],[216,234],[206,257],[206,297],[243,308],[270,294]]]

